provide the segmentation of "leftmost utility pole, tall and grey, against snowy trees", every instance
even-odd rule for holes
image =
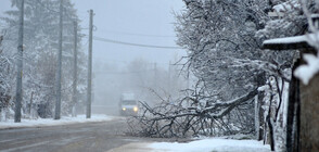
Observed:
[[[16,94],[15,94],[15,112],[14,122],[21,122],[21,102],[22,102],[22,75],[23,75],[23,24],[24,24],[24,0],[21,0],[20,5],[20,28],[17,39],[17,74],[16,74]]]

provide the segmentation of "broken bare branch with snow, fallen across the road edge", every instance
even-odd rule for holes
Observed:
[[[212,125],[222,129],[233,131],[229,125],[222,124],[222,117],[229,114],[234,107],[248,104],[247,101],[254,99],[257,89],[243,94],[230,101],[218,101],[206,107],[199,105],[197,99],[184,98],[181,103],[163,103],[158,106],[151,107],[148,103],[142,102],[142,112],[130,122],[132,131],[139,136],[148,137],[183,137],[188,135],[199,135],[209,132]],[[183,104],[182,102],[196,102],[196,104]],[[204,127],[205,126],[205,127]]]

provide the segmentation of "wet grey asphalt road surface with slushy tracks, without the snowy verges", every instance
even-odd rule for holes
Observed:
[[[105,152],[148,139],[125,135],[126,121],[0,130],[1,152]]]

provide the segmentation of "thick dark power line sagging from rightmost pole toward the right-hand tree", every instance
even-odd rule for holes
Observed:
[[[133,46],[133,47],[143,47],[143,48],[156,48],[156,49],[182,49],[180,47],[167,47],[167,46],[153,46],[153,45],[142,45],[142,43],[132,43],[132,42],[125,42],[118,41],[113,39],[106,39],[101,37],[93,37],[94,40],[111,42],[111,43],[118,43],[118,45],[126,45],[126,46]]]

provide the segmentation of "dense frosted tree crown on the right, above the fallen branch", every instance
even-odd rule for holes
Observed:
[[[197,87],[203,107],[214,106],[254,92],[265,84],[265,71],[272,64],[258,49],[255,31],[265,26],[267,1],[202,0],[186,1],[187,10],[177,16],[178,43],[189,51],[189,66],[202,81]],[[275,66],[276,67],[276,66]],[[228,123],[252,132],[252,102],[238,103]],[[242,107],[240,107],[242,106]],[[220,109],[222,110],[222,109]],[[250,112],[251,111],[251,112]],[[235,115],[242,115],[235,117]],[[228,115],[228,114],[227,114]],[[221,119],[225,119],[222,117]],[[241,119],[240,122],[238,119]]]

